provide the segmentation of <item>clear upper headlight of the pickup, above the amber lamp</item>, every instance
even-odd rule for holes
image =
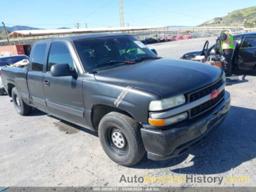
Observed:
[[[149,104],[149,110],[150,111],[160,111],[169,109],[181,104],[184,104],[186,102],[184,95],[174,96],[163,100],[158,101],[152,101]]]

